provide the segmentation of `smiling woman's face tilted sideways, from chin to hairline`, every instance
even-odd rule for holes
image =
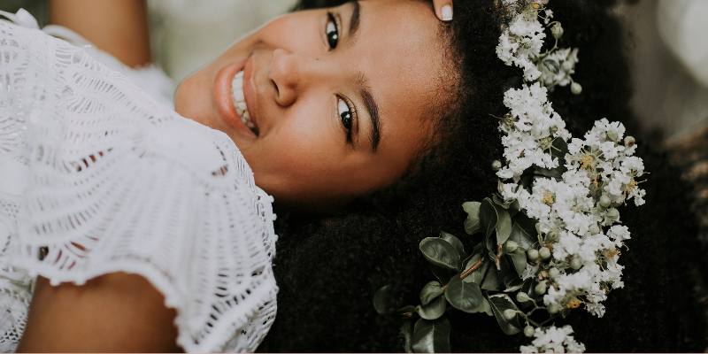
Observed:
[[[439,26],[410,0],[289,13],[182,81],[175,109],[230,136],[279,202],[339,204],[398,180],[430,141]]]

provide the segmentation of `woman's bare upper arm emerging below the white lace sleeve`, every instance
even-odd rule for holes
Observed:
[[[139,275],[111,273],[83,286],[37,279],[18,351],[177,352],[176,313]]]

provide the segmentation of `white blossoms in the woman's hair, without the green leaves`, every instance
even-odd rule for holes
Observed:
[[[583,306],[604,315],[602,302],[610,289],[623,286],[620,248],[630,238],[621,226],[617,207],[634,199],[644,203],[639,188],[643,161],[635,153],[635,139],[624,137],[619,122],[597,120],[584,139],[572,138],[563,119],[547,101],[547,89],[573,83],[578,50],[558,49],[563,29],[550,22],[552,12],[530,3],[515,16],[499,38],[497,55],[507,65],[524,70],[521,89],[509,89],[504,105],[510,113],[501,119],[504,160],[497,171],[500,194],[516,202],[534,219],[538,243],[527,250],[524,280],[536,282],[535,296],[543,296],[551,314]],[[542,14],[543,12],[543,14]],[[556,38],[552,50],[541,53],[543,19]],[[580,94],[580,85],[572,87]],[[531,175],[530,181],[522,175]],[[521,296],[525,298],[524,296]],[[522,351],[582,351],[570,327],[534,327],[526,335],[533,346]]]

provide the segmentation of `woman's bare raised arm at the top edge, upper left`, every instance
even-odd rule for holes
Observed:
[[[71,28],[126,65],[150,63],[145,0],[50,0],[50,23]]]

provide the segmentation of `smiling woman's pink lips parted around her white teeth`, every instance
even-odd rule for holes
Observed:
[[[246,60],[242,60],[234,64],[226,65],[219,70],[214,80],[214,104],[216,104],[219,116],[221,116],[221,119],[227,124],[227,126],[235,127],[235,129],[242,135],[249,136],[251,138],[256,138],[256,134],[253,133],[249,127],[246,127],[246,125],[243,124],[241,116],[238,114],[238,112],[236,112],[236,107],[234,106],[234,98],[231,92],[231,82],[234,80],[234,76],[236,73],[240,72],[241,70],[244,70],[245,64]],[[244,82],[250,79],[247,79],[246,72],[244,72],[243,74]],[[250,85],[243,86],[248,87]],[[246,95],[245,91],[246,90],[244,88],[244,96]],[[246,104],[249,105],[249,103],[250,101],[247,98]],[[250,113],[250,115],[252,116],[252,113]],[[253,120],[253,118],[251,118],[251,120]]]

